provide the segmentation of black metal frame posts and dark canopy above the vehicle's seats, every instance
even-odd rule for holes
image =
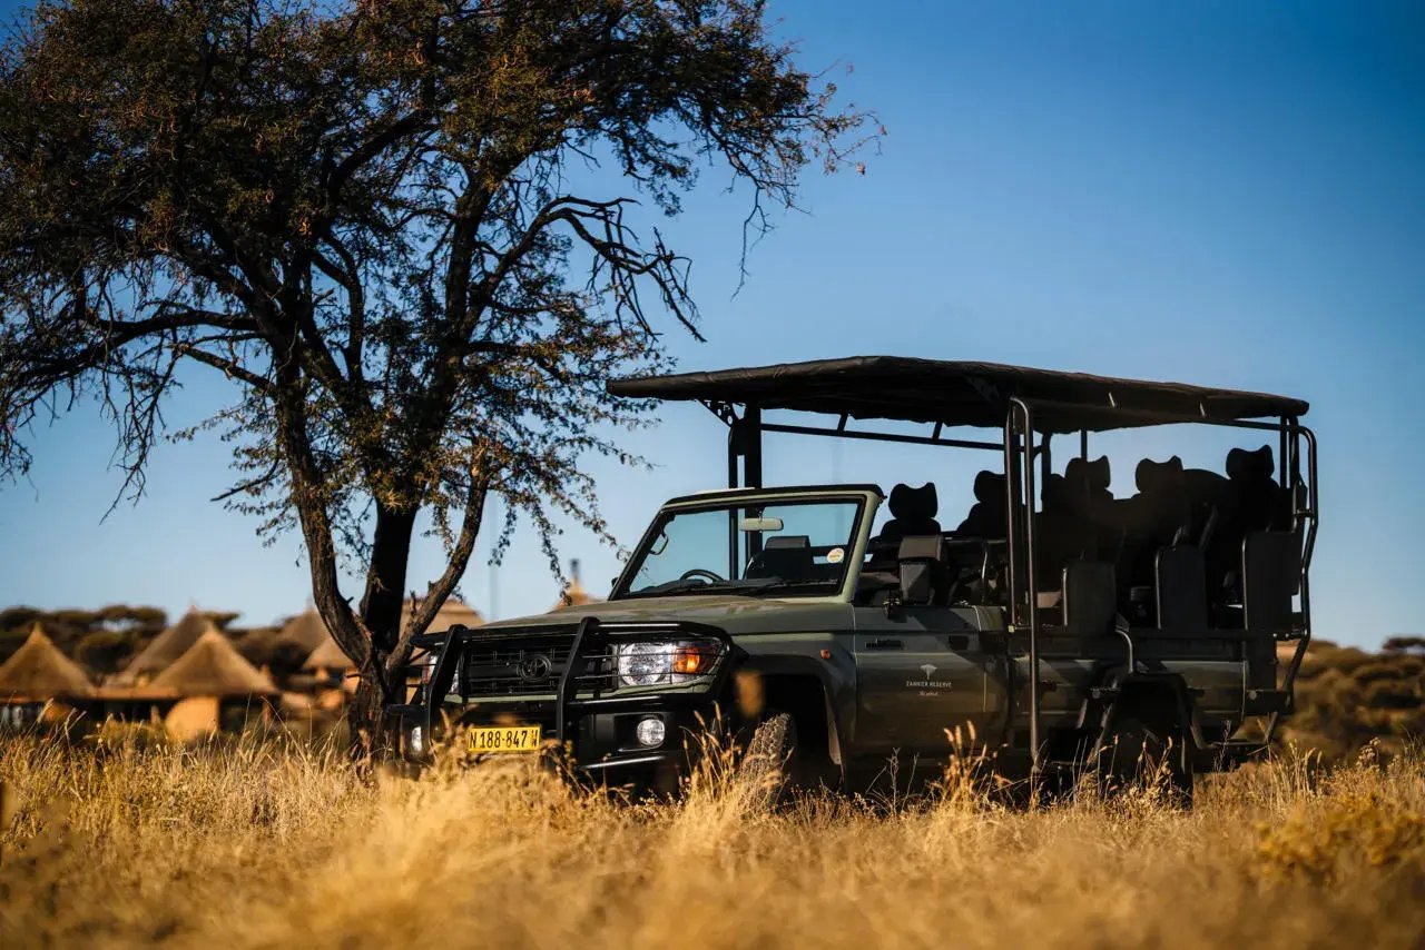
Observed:
[[[633,377],[610,382],[608,392],[623,397],[698,402],[711,410],[728,427],[730,489],[762,487],[764,433],[999,453],[1007,483],[1006,621],[1012,634],[1025,635],[1033,671],[1040,669],[1045,635],[1036,577],[1040,541],[1035,517],[1039,497],[1036,483],[1047,483],[1052,474],[1050,442],[1054,434],[1077,434],[1079,457],[1087,461],[1090,433],[1114,429],[1193,423],[1274,432],[1280,451],[1277,480],[1291,499],[1291,531],[1300,540],[1300,565],[1292,565],[1300,573],[1294,578],[1300,611],[1292,611],[1288,622],[1270,631],[1255,631],[1270,632],[1273,640],[1297,641],[1280,691],[1284,695],[1270,714],[1267,739],[1280,715],[1291,708],[1292,685],[1311,638],[1310,567],[1320,523],[1317,437],[1300,422],[1310,407],[1302,400],[1184,383],[891,356]],[[831,416],[835,423],[815,426],[768,422],[764,419],[767,410]],[[929,432],[878,432],[852,427],[852,420],[921,423]],[[943,432],[948,427],[990,429],[996,437],[946,437]],[[737,544],[735,531],[730,544]],[[1131,662],[1134,641],[1129,637],[1126,624],[1120,622],[1119,632],[1127,641]],[[1247,632],[1253,631],[1204,631],[1204,635],[1240,640]],[[1042,684],[1036,672],[1029,677],[1029,743],[1036,768],[1043,748],[1040,694]]]

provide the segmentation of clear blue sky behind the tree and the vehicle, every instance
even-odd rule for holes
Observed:
[[[737,291],[745,195],[710,171],[664,225],[695,261],[708,343],[670,332],[685,369],[854,353],[986,359],[1301,396],[1321,436],[1318,635],[1419,632],[1425,537],[1425,7],[1419,4],[772,3],[801,61],[889,130],[865,177],[811,172]],[[854,68],[848,70],[848,64]],[[200,373],[170,404],[197,420],[227,392]],[[591,463],[631,544],[658,500],[722,479],[724,432],[670,406],[627,444],[656,467]],[[1176,450],[1104,437],[1114,489]],[[1227,443],[1181,443],[1220,467]],[[1260,443],[1253,443],[1260,444]],[[0,487],[0,604],[158,604],[269,622],[306,602],[295,537],[208,501],[217,442],[162,447],[148,497],[120,486],[110,430],[81,406],[36,434],[28,481]],[[969,504],[969,453],[784,437],[770,483],[935,480],[942,520]],[[556,588],[527,531],[463,593],[502,617]],[[614,553],[570,528],[591,588]],[[412,585],[439,573],[428,543]],[[349,593],[359,594],[355,583]]]

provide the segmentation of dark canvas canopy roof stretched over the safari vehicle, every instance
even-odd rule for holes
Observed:
[[[1040,432],[1104,430],[1163,422],[1304,416],[1287,396],[1064,373],[1000,363],[852,356],[608,383],[616,396],[731,403],[760,409],[1003,426],[1015,396],[1035,407]]]

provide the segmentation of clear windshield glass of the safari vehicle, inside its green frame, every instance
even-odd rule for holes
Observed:
[[[835,594],[861,511],[859,499],[835,499],[665,513],[634,554],[620,594]]]

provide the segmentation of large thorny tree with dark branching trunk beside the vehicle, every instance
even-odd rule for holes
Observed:
[[[93,396],[138,497],[157,439],[217,427],[222,497],[301,530],[369,741],[492,491],[556,571],[550,510],[606,534],[579,461],[628,461],[601,433],[646,406],[604,380],[665,365],[657,320],[698,332],[634,198],[675,214],[728,169],[755,229],[861,144],[762,6],[41,3],[0,57],[0,466]],[[168,433],[185,365],[235,397]],[[426,510],[447,568],[400,630]]]

